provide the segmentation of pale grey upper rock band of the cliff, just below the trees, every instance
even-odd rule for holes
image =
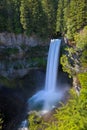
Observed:
[[[47,42],[46,42],[47,43]],[[21,45],[25,44],[28,46],[36,46],[45,44],[42,40],[38,39],[36,36],[28,37],[24,34],[15,35],[14,33],[0,33],[0,44],[3,45]]]

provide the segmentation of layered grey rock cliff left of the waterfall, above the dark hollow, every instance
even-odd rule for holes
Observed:
[[[39,55],[40,59],[41,53],[42,57],[44,56],[44,45],[48,43],[48,41],[41,41],[36,36],[0,33],[0,76],[16,78],[26,75],[31,67],[35,67],[37,64],[34,57]]]

